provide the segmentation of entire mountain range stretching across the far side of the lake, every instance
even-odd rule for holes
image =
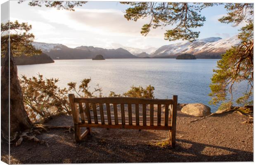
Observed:
[[[93,46],[78,46],[69,48],[62,44],[47,44],[33,42],[33,46],[41,49],[43,53],[49,55],[53,60],[61,59],[92,59],[96,55],[103,55],[108,58],[175,58],[181,54],[193,54],[197,58],[221,58],[221,54],[231,46],[238,45],[241,41],[237,36],[227,39],[220,37],[210,37],[198,39],[193,42],[185,41],[175,44],[161,46],[160,48],[139,49],[123,47],[116,49],[105,49]]]

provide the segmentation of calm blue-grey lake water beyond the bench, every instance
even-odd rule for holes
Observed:
[[[157,99],[172,98],[178,95],[180,103],[204,103],[208,105],[209,84],[216,62],[213,59],[107,59],[97,60],[55,60],[51,64],[18,66],[19,75],[28,77],[43,74],[46,78],[59,78],[59,86],[67,87],[68,82],[91,78],[90,90],[97,83],[105,96],[110,91],[123,93],[130,86],[155,87]],[[236,92],[235,96],[239,95]],[[217,110],[210,106],[211,111]]]

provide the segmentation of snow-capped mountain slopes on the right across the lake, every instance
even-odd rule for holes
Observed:
[[[241,41],[237,39],[237,36],[227,39],[210,37],[206,39],[198,39],[193,42],[179,42],[160,47],[152,53],[150,57],[176,57],[177,55],[188,53],[195,55],[197,58],[220,58],[222,53],[225,53],[231,46],[235,46],[240,42]]]

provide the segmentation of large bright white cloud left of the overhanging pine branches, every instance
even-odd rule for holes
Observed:
[[[116,9],[75,9],[75,11],[38,10],[38,13],[52,23],[65,25],[73,30],[112,36],[136,36],[148,19],[127,21],[124,13]],[[164,30],[152,30],[148,37],[163,37]]]

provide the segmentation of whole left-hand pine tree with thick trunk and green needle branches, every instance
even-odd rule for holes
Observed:
[[[21,2],[23,1],[19,1]],[[32,1],[28,5],[39,7],[45,5],[45,7],[74,11],[74,7],[85,3],[81,1]],[[1,57],[4,57],[3,66],[1,66],[1,137],[6,141],[9,141],[9,138],[17,131],[24,131],[32,126],[24,108],[17,66],[13,57],[41,53],[33,47],[34,35],[28,33],[29,30],[31,30],[31,25],[27,23],[18,21],[1,23]]]

